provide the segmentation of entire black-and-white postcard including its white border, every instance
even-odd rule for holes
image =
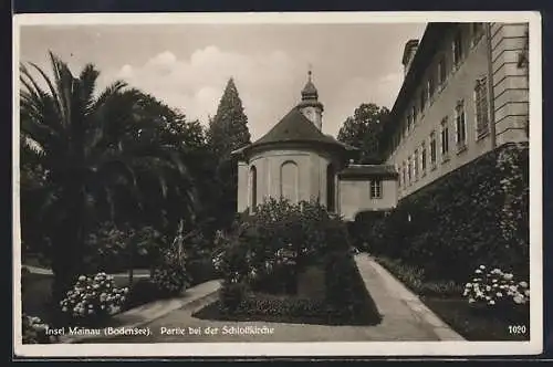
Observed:
[[[15,15],[15,354],[540,354],[540,27]]]

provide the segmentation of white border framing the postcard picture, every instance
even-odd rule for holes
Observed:
[[[530,55],[530,342],[358,342],[358,343],[21,343],[21,233],[19,202],[19,42],[22,25],[75,24],[243,24],[243,23],[418,23],[528,22]],[[486,356],[535,355],[543,348],[542,269],[542,32],[541,15],[494,12],[295,12],[295,13],[74,13],[17,14],[13,18],[13,337],[19,357],[263,357],[263,356]]]

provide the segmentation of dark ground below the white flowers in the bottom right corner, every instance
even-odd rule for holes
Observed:
[[[421,301],[457,333],[471,342],[530,340],[530,324],[520,317],[517,324],[494,316],[479,313],[462,297],[440,298],[421,297]],[[510,333],[509,326],[523,326],[525,333]]]

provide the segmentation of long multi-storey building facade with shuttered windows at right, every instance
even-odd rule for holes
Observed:
[[[386,124],[398,198],[505,143],[528,140],[525,23],[430,23],[405,45]]]

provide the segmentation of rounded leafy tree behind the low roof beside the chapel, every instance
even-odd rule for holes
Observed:
[[[340,128],[337,139],[361,149],[357,162],[380,164],[383,161],[379,139],[383,120],[388,113],[386,107],[378,107],[374,103],[363,103]]]

